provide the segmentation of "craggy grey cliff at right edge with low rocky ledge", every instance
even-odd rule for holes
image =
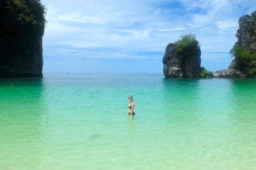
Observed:
[[[228,69],[217,70],[214,77],[256,77],[256,11],[238,20],[237,42],[230,50],[235,57]]]

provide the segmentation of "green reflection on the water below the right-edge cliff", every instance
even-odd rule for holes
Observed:
[[[256,79],[255,78],[230,78],[228,92],[228,111],[222,121],[225,122],[226,137],[229,142],[228,150],[244,154],[242,159],[248,160],[246,165],[254,165],[255,155],[248,146],[256,140]],[[240,155],[241,156],[241,155]]]

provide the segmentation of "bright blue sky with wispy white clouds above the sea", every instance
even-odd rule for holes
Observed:
[[[162,73],[166,45],[183,33],[201,44],[201,66],[225,69],[238,18],[252,0],[41,0],[47,8],[44,73]]]

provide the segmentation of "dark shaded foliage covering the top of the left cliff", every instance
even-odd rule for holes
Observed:
[[[0,11],[1,36],[17,34],[24,29],[31,33],[44,29],[45,6],[40,0],[4,0]]]

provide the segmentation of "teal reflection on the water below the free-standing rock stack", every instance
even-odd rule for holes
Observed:
[[[197,78],[163,78],[162,110],[168,127],[181,126],[187,119],[196,121],[201,115],[201,80]]]

